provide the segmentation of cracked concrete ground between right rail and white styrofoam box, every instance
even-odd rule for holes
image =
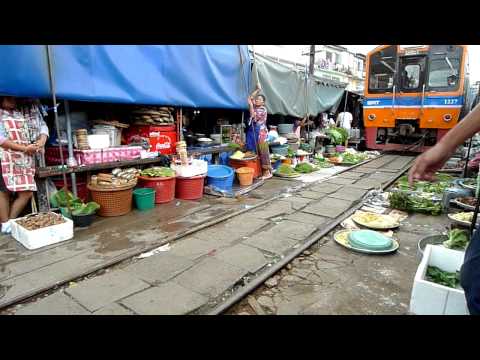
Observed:
[[[400,249],[391,255],[352,252],[333,233],[296,258],[228,314],[407,314],[420,258],[417,243],[450,224],[446,216],[413,214],[395,231]]]

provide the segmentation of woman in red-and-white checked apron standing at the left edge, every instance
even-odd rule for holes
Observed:
[[[43,151],[48,127],[40,107],[0,97],[0,221],[10,233],[10,219],[17,218],[30,201],[35,184],[35,154]],[[10,199],[14,198],[10,203]]]

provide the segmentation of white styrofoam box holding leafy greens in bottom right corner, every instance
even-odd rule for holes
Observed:
[[[410,312],[416,315],[468,315],[465,292],[426,280],[428,266],[460,271],[465,253],[438,245],[427,245],[413,282]]]

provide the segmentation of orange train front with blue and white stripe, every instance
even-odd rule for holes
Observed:
[[[366,65],[367,148],[422,152],[463,116],[465,46],[383,45]]]

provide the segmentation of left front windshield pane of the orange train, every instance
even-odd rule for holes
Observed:
[[[393,91],[393,81],[397,62],[397,47],[392,45],[372,54],[368,90],[371,93]]]

